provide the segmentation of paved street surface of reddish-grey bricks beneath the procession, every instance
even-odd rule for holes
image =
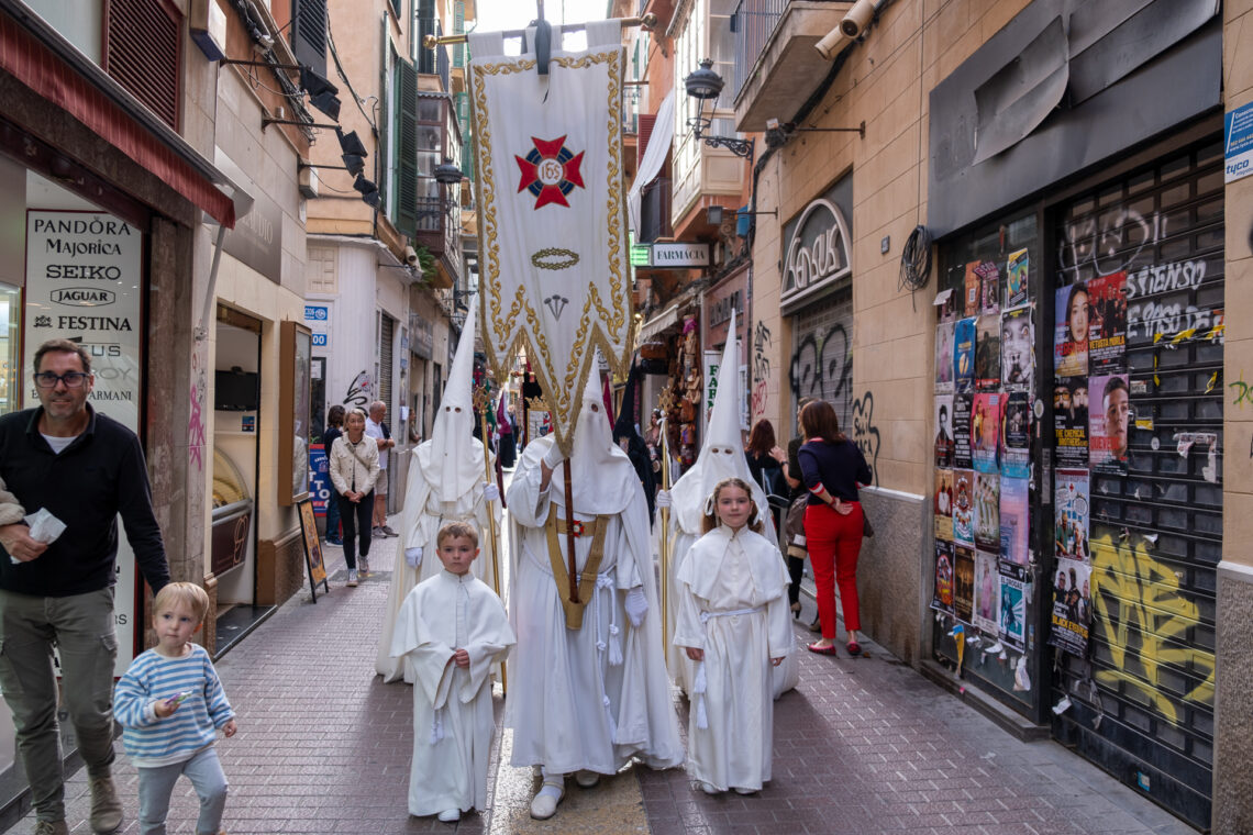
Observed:
[[[510,736],[501,731],[482,815],[455,826],[410,817],[411,691],[373,674],[395,543],[375,545],[375,573],[357,588],[345,587],[343,557],[327,548],[331,592],[315,605],[306,587],[218,663],[239,714],[239,734],[218,741],[231,835],[1195,832],[1063,747],[1019,742],[873,642],[865,642],[865,658],[804,652],[812,607],[796,626],[801,684],[776,704],[774,779],[758,795],[707,797],[682,770],[629,769],[590,790],[569,780],[556,816],[533,821],[535,780],[530,769],[507,765]],[[685,727],[680,696],[675,707]],[[497,690],[497,721],[501,711]],[[135,770],[120,747],[119,740],[122,831],[138,832]],[[83,771],[66,796],[70,830],[90,832]],[[195,810],[180,781],[169,831],[193,832]],[[11,831],[33,829],[28,815]]]

